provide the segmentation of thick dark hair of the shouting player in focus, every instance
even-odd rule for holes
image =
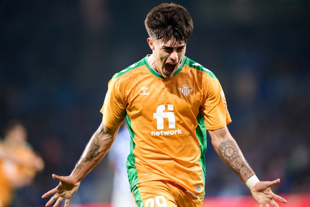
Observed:
[[[146,16],[144,25],[150,38],[167,42],[175,37],[179,43],[186,43],[194,28],[188,11],[175,3],[162,3],[154,7]]]

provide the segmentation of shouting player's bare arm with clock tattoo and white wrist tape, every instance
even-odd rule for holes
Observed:
[[[237,142],[229,133],[227,126],[216,130],[209,130],[209,134],[216,153],[228,165],[228,167],[237,174],[242,182],[246,183],[249,178],[255,175],[254,171],[244,158]],[[281,196],[274,194],[270,189],[270,186],[276,185],[279,182],[280,179],[264,182],[257,180],[257,182],[251,183],[251,186],[249,186],[248,183],[246,184],[250,188],[251,194],[259,204],[259,207],[263,207],[263,205],[267,207],[269,204],[274,207],[279,207],[273,199],[277,199],[283,203],[286,203],[287,201]]]

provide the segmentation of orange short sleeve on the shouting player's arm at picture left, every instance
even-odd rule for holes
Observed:
[[[117,79],[111,79],[108,83],[104,104],[100,110],[103,114],[102,122],[108,128],[117,128],[125,118],[127,106],[121,94]]]

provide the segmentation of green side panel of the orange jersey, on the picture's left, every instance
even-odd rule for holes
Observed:
[[[135,167],[135,155],[134,155],[135,143],[133,141],[135,137],[135,133],[132,131],[131,120],[129,116],[127,115],[127,113],[125,117],[126,117],[126,122],[127,122],[127,128],[129,130],[130,137],[131,137],[130,154],[127,157],[126,166],[127,166],[127,174],[128,174],[129,184],[130,184],[130,190],[132,190],[133,187],[135,187],[135,185],[138,184],[138,172],[137,172],[137,168]]]

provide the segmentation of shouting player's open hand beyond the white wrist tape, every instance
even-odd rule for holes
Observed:
[[[273,205],[274,207],[279,207],[279,205],[273,199],[277,199],[282,203],[287,203],[284,198],[274,194],[270,189],[270,186],[277,185],[279,182],[280,179],[274,181],[258,182],[251,189],[252,196],[259,204],[259,207],[263,207],[263,205],[265,205],[265,207],[270,207],[269,204]]]

